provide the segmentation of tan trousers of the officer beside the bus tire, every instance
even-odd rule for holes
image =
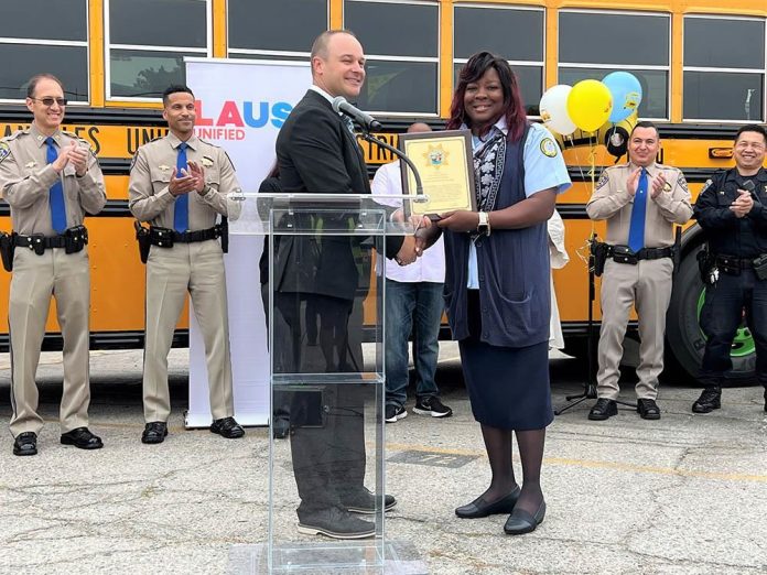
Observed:
[[[599,398],[617,399],[623,340],[631,304],[639,321],[638,399],[658,397],[658,376],[663,370],[666,312],[671,300],[671,258],[640,260],[637,265],[605,262],[602,275],[602,329],[599,330],[596,391]]]

